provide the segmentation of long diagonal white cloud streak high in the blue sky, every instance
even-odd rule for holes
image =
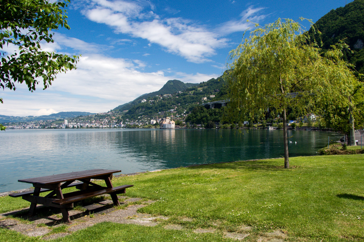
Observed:
[[[226,46],[225,38],[194,26],[179,18],[160,20],[153,12],[142,12],[142,6],[126,1],[95,0],[83,14],[98,23],[107,24],[116,33],[130,34],[161,45],[166,52],[195,63],[210,61],[216,48]]]

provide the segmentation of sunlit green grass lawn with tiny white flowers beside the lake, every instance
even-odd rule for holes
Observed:
[[[291,157],[292,168],[284,169],[283,164],[283,159],[270,159],[203,165],[114,178],[113,184],[133,184],[127,196],[157,200],[139,212],[170,217],[167,223],[179,223],[187,229],[213,227],[218,233],[239,232],[246,225],[253,227],[246,241],[256,241],[260,233],[275,229],[284,231],[288,241],[364,241],[363,154]],[[1,212],[28,206],[9,197],[0,198],[0,204]],[[186,222],[183,217],[193,220]],[[82,241],[83,236],[105,229],[110,238],[90,241],[191,239],[182,236],[187,230],[102,223],[56,241]],[[130,240],[128,236],[135,236],[133,231],[143,232]],[[164,239],[154,238],[158,233]],[[218,233],[193,237],[229,241]],[[176,234],[178,240],[173,238]],[[0,229],[0,238],[4,236],[33,241]]]

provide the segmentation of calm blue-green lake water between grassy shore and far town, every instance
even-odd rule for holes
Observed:
[[[18,182],[87,169],[123,174],[192,164],[283,156],[281,130],[7,130],[0,132],[0,192],[28,188]],[[289,155],[315,155],[327,144],[321,131],[288,131]],[[296,143],[297,142],[297,143]]]

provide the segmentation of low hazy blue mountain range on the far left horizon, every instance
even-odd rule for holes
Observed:
[[[9,122],[29,122],[29,121],[39,121],[39,120],[50,120],[50,119],[66,119],[66,118],[75,118],[78,116],[87,116],[90,114],[94,114],[91,112],[58,112],[56,114],[50,115],[41,115],[41,116],[6,116],[0,115],[0,123],[9,123]]]

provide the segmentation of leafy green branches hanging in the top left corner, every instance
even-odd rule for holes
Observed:
[[[63,9],[69,2],[14,0],[1,3],[0,87],[15,90],[16,82],[25,82],[29,91],[34,91],[41,78],[46,89],[57,73],[75,69],[78,56],[46,52],[40,46],[41,41],[53,42],[51,30],[70,29],[67,12]],[[19,53],[6,53],[4,46],[15,46]],[[0,102],[3,102],[1,98]]]

